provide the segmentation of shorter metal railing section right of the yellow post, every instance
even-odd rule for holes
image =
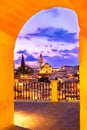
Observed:
[[[58,100],[79,100],[80,88],[79,81],[59,82]]]

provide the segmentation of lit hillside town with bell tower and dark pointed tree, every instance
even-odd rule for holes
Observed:
[[[52,68],[49,63],[43,62],[43,56],[39,56],[39,67],[32,68],[26,65],[24,56],[21,58],[21,65],[14,72],[15,81],[50,81],[52,79],[61,82],[79,80],[79,65],[64,65],[60,68]]]

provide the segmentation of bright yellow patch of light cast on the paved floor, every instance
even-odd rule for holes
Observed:
[[[14,124],[16,126],[34,129],[36,126],[40,125],[38,118],[43,123],[45,122],[45,118],[41,117],[40,115],[36,114],[29,114],[24,113],[22,111],[14,113]]]

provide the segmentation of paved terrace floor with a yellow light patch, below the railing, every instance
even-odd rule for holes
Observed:
[[[80,130],[79,102],[15,102],[10,130]]]

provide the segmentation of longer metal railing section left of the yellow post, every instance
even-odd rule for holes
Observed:
[[[14,98],[26,100],[51,100],[48,82],[18,82],[14,86]]]

